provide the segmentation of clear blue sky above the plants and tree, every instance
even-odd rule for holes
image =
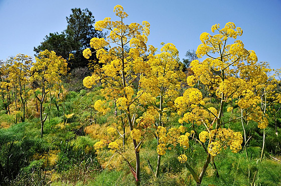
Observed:
[[[66,17],[72,8],[88,8],[95,20],[111,17],[113,8],[121,5],[129,15],[125,20],[151,24],[149,45],[173,43],[179,57],[187,50],[196,50],[203,32],[211,34],[211,26],[227,22],[241,27],[247,50],[254,50],[259,61],[271,68],[280,68],[281,0],[186,0],[186,1],[96,1],[96,0],[0,0],[0,60],[19,53],[34,56],[33,48],[40,45],[49,33],[66,29]]]

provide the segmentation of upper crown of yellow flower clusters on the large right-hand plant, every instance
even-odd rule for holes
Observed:
[[[191,70],[197,80],[208,85],[210,90],[217,90],[217,96],[220,97],[223,93],[226,98],[231,96],[237,98],[243,90],[251,89],[251,84],[237,77],[246,77],[251,73],[252,65],[257,61],[256,55],[254,51],[245,50],[240,40],[234,41],[232,45],[226,44],[229,38],[236,39],[242,35],[241,28],[236,27],[234,23],[229,22],[222,29],[216,24],[211,30],[218,31],[219,34],[211,36],[202,33],[200,36],[202,44],[196,51],[198,57],[208,55],[209,58],[201,63],[198,60],[192,61]],[[213,57],[212,54],[217,54],[218,57]],[[244,61],[249,65],[245,65]],[[251,74],[248,79],[252,77],[256,76]]]

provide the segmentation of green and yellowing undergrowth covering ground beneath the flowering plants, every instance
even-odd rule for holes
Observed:
[[[97,152],[93,148],[101,138],[99,136],[105,135],[108,122],[113,118],[110,114],[99,115],[94,109],[94,102],[102,99],[99,89],[68,92],[60,109],[51,108],[43,138],[40,138],[38,117],[30,116],[24,123],[15,123],[14,116],[1,113],[1,185],[135,185],[122,156],[109,149]],[[216,106],[216,103],[207,104]],[[226,112],[224,117],[227,118],[228,114]],[[171,118],[169,126],[177,125],[178,117]],[[239,121],[232,122],[230,127],[243,132]],[[266,152],[262,161],[259,161],[260,130],[249,123],[246,130],[251,132],[251,139],[246,144],[247,148],[238,153],[222,150],[214,158],[217,172],[210,163],[201,185],[281,185],[281,161],[277,156],[281,140],[272,128],[269,124],[266,129]],[[125,130],[129,131],[128,128]],[[278,132],[281,133],[279,129]],[[126,143],[131,144],[128,135]],[[207,147],[207,143],[204,145]],[[153,174],[157,164],[156,148],[157,140],[150,136],[141,149],[142,185],[196,184],[187,164],[179,162],[182,149],[177,146],[162,156],[160,175],[156,178]],[[206,159],[202,146],[190,139],[185,154],[187,163],[199,173]],[[123,155],[134,163],[133,150]]]

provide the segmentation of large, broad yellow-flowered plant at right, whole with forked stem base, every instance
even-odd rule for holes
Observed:
[[[243,142],[241,133],[234,132],[230,128],[223,128],[226,123],[222,121],[225,103],[234,100],[241,109],[248,109],[247,113],[242,112],[240,117],[227,122],[245,118],[257,121],[259,128],[265,128],[268,124],[258,106],[259,99],[254,90],[254,86],[261,80],[266,81],[267,77],[257,68],[257,57],[254,51],[246,50],[242,41],[236,40],[237,36],[242,35],[242,29],[236,27],[234,23],[227,23],[222,29],[219,24],[216,24],[211,30],[218,34],[201,34],[202,44],[198,46],[196,54],[199,58],[203,56],[207,58],[203,62],[192,61],[191,70],[194,72],[194,77],[188,78],[187,83],[194,85],[195,80],[199,80],[206,86],[212,86],[212,89],[216,90],[217,98],[220,99],[219,108],[205,108],[202,93],[195,88],[187,89],[183,96],[175,101],[178,113],[184,113],[180,122],[191,123],[193,126],[195,124],[205,126],[205,130],[199,134],[201,143],[205,143],[208,139],[208,147],[205,148],[207,158],[202,171],[197,174],[192,167],[187,166],[197,185],[201,184],[208,164],[211,160],[214,162],[214,156],[219,154],[222,148],[229,146],[233,152],[241,149]],[[230,41],[234,43],[228,44]],[[231,110],[232,108],[228,108],[228,111]],[[183,162],[182,159],[181,162]]]

